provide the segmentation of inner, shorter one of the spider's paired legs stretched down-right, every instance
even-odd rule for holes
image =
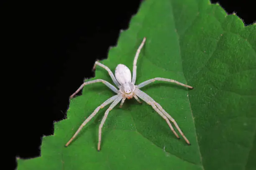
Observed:
[[[140,90],[141,91],[141,90]],[[142,100],[144,100],[146,103],[148,103],[148,105],[151,105],[153,107],[154,110],[156,110],[156,112],[164,118],[164,120],[167,122],[167,124],[169,125],[170,129],[172,130],[172,132],[174,133],[174,135],[179,139],[179,135],[175,132],[174,128],[172,127],[172,124],[170,123],[169,119],[166,117],[166,115],[164,115],[164,113],[162,113],[154,104],[154,102],[152,102],[150,100],[150,98],[148,98],[148,95],[145,95],[142,93],[142,91],[140,92],[138,91],[136,95],[138,95],[138,97],[140,97]],[[154,101],[154,100],[153,100]]]

